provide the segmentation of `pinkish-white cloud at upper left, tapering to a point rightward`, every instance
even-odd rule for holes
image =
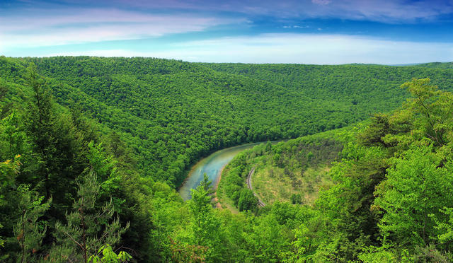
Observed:
[[[51,16],[0,17],[1,49],[42,47],[108,40],[158,37],[202,31],[213,25],[241,20],[210,16],[155,15],[116,9],[82,9]]]

